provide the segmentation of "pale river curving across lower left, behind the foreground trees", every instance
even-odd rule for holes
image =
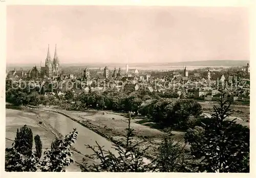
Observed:
[[[39,119],[36,117],[35,113],[40,116]],[[43,124],[38,124],[39,120],[41,120]],[[100,146],[104,146],[103,149],[111,150],[111,152],[115,154],[117,153],[117,151],[112,148],[112,142],[61,114],[38,109],[24,109],[21,107],[18,109],[11,109],[10,106],[6,109],[6,145],[8,147],[10,146],[10,139],[14,140],[15,138],[16,129],[25,124],[32,128],[33,135],[38,134],[41,137],[43,148],[50,147],[51,141],[54,140],[53,135],[56,136],[56,133],[65,136],[73,131],[73,128],[76,128],[78,137],[73,147],[83,155],[94,153],[93,150],[87,148],[85,144],[94,146],[96,145],[96,141]],[[81,154],[79,155],[79,153],[74,152],[73,159],[81,163],[82,156]],[[89,160],[89,163],[92,162],[92,160]],[[66,171],[79,170],[78,164],[72,164],[66,168]]]

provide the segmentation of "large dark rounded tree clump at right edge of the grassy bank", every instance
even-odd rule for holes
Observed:
[[[198,124],[202,107],[193,100],[161,99],[143,102],[138,111],[165,127],[187,129]]]

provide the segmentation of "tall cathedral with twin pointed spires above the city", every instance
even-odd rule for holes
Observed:
[[[55,53],[53,59],[51,58],[50,51],[49,51],[49,44],[48,44],[48,52],[45,61],[45,67],[41,66],[41,74],[47,78],[55,78],[60,75],[60,68],[59,68],[59,59],[57,56],[57,45],[55,45]]]

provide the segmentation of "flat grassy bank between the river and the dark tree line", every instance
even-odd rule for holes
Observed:
[[[114,113],[112,111],[96,111],[93,112],[79,112],[74,110],[65,110],[53,107],[40,107],[43,110],[49,110],[63,114],[77,123],[87,127],[102,137],[105,137],[115,144],[123,146],[125,144],[126,128],[128,126],[128,118],[122,116],[121,113]],[[159,125],[151,120],[135,117],[131,121],[131,127],[134,129],[135,136],[133,142],[141,142],[140,148],[150,146],[146,150],[148,158],[153,158],[156,154],[157,148],[162,141],[163,132],[159,130]],[[183,131],[173,131],[173,138],[175,141],[184,143]],[[187,146],[189,148],[189,146]]]

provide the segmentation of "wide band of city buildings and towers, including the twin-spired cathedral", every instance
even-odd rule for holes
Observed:
[[[91,74],[90,69],[83,70],[83,74],[66,74],[60,72],[60,61],[57,56],[57,50],[55,46],[54,57],[51,58],[49,46],[47,51],[47,57],[45,59],[45,66],[40,66],[37,69],[36,66],[27,72],[23,70],[7,72],[7,78],[11,80],[29,80],[29,81],[61,81],[63,87],[58,88],[58,95],[65,95],[65,84],[70,81],[84,81],[85,87],[74,88],[74,93],[99,91],[105,90],[123,90],[124,85],[131,85],[134,90],[143,88],[149,92],[164,93],[176,93],[178,98],[194,98],[206,101],[215,101],[220,98],[219,90],[223,90],[229,95],[229,99],[233,101],[249,101],[250,85],[249,85],[249,63],[242,68],[242,71],[247,73],[245,78],[241,78],[233,74],[232,76],[224,76],[217,80],[211,79],[211,72],[208,70],[206,76],[201,76],[199,73],[189,75],[189,71],[186,66],[182,73],[173,72],[169,78],[156,78],[151,77],[150,74],[140,73],[137,69],[129,69],[129,65],[125,65],[125,70],[116,68],[109,70],[108,66],[105,66],[103,71],[99,70],[94,75]],[[107,82],[110,82],[105,85]]]

